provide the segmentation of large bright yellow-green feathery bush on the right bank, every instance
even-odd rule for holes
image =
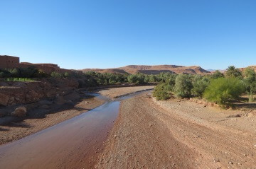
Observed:
[[[238,99],[244,91],[245,88],[238,78],[217,78],[210,81],[203,96],[215,103],[226,105]]]

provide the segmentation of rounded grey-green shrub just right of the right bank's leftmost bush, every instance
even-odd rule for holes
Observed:
[[[193,88],[191,76],[187,74],[179,74],[175,79],[174,93],[180,98],[188,98],[191,96]]]

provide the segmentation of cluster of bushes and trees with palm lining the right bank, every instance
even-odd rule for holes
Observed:
[[[166,100],[171,95],[178,98],[206,98],[222,105],[230,104],[242,93],[249,95],[253,101],[256,93],[256,74],[247,68],[242,74],[240,69],[229,66],[225,74],[215,71],[212,75],[179,74],[166,78],[154,90],[157,100]]]

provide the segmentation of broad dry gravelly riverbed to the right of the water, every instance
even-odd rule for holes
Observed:
[[[124,100],[96,168],[256,168],[253,112]]]

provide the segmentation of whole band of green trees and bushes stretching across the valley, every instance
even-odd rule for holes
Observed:
[[[157,100],[167,100],[171,95],[178,98],[206,98],[218,104],[230,104],[242,93],[248,95],[249,101],[255,100],[256,73],[254,69],[245,71],[228,66],[225,74],[215,71],[208,75],[191,74],[110,74],[89,71],[68,71],[65,73],[52,72],[46,74],[40,69],[31,66],[18,69],[0,69],[0,78],[4,81],[37,81],[40,78],[74,78],[80,88],[118,85],[122,83],[146,84],[158,83],[154,90]]]

